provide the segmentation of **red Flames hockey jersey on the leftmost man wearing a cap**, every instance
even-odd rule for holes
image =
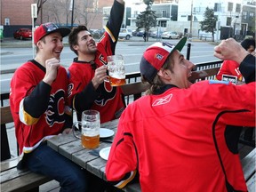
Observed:
[[[36,60],[30,60],[17,68],[12,77],[10,106],[20,154],[31,152],[42,141],[59,134],[65,123],[67,71],[60,67],[52,86],[42,81],[44,75],[45,68]],[[26,106],[24,100],[27,101]],[[33,102],[29,103],[29,100]],[[43,112],[38,114],[38,111]]]

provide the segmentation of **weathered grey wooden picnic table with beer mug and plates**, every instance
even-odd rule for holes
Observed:
[[[101,124],[101,128],[108,128],[116,133],[118,120],[113,120],[104,124]],[[100,151],[102,148],[107,148],[111,146],[111,141],[113,141],[114,136],[107,139],[100,139],[100,147],[96,150]],[[105,141],[104,141],[105,140]],[[92,172],[94,175],[98,176],[102,180],[106,179],[105,167],[107,161],[102,159],[100,156],[94,156],[90,153],[95,149],[86,149],[81,145],[81,140],[75,138],[75,136],[70,133],[66,135],[58,135],[52,137],[48,141],[48,146],[58,151],[62,156],[66,156],[68,159],[74,163],[80,165],[85,170]],[[124,191],[129,192],[140,192],[139,183],[129,183]]]

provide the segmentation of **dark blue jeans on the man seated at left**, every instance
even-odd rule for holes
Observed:
[[[28,169],[59,181],[61,192],[88,190],[87,172],[48,147],[46,142],[26,156]]]

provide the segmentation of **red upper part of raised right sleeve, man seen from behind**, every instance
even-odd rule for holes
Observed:
[[[216,121],[221,118],[225,124],[236,126],[255,125],[255,82],[235,85],[223,81],[201,81],[192,84],[193,99],[197,106],[209,106],[205,116],[216,113]],[[204,100],[204,98],[211,98]],[[211,110],[211,112],[210,112]]]

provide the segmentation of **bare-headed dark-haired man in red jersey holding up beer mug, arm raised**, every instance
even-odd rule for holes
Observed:
[[[99,43],[85,26],[73,28],[68,37],[70,49],[77,55],[68,68],[68,100],[78,120],[89,108],[100,111],[100,123],[118,118],[124,110],[121,88],[104,81],[108,77],[107,56],[115,54],[123,16],[124,1],[115,0]]]

